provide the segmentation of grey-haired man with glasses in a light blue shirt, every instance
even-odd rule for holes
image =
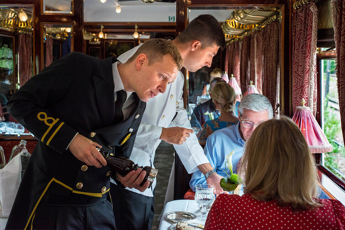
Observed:
[[[207,138],[204,153],[214,170],[207,173],[205,177],[213,173],[226,177],[225,156],[233,150],[235,150],[232,156],[233,173],[236,173],[237,163],[243,155],[246,140],[252,136],[253,131],[260,123],[272,119],[272,117],[272,106],[265,96],[257,93],[246,95],[238,106],[239,122],[237,125],[217,130]],[[190,188],[195,191],[197,184],[205,184],[205,177],[200,171],[194,172],[189,182]]]

